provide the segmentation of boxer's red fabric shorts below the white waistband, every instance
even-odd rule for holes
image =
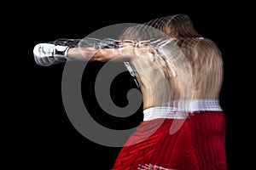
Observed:
[[[145,164],[176,170],[226,170],[222,111],[196,112],[174,134],[170,134],[172,122],[173,119],[142,122],[120,150],[112,170],[136,170]],[[147,139],[132,144],[159,125]]]

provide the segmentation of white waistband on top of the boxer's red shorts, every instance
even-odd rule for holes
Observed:
[[[156,106],[143,111],[143,121],[157,118],[184,119],[189,113],[195,111],[222,111],[218,99],[194,99],[188,101],[172,102],[175,106]]]

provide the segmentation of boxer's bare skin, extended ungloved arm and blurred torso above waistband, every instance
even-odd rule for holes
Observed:
[[[131,43],[122,48],[70,48],[68,57],[84,61],[130,61],[137,73],[143,94],[143,109],[175,99],[218,99],[222,81],[222,60],[218,48],[209,40],[181,41],[187,64],[175,56],[163,66],[160,54],[151,46]],[[155,60],[154,60],[155,59]],[[178,65],[173,68],[173,65]],[[183,86],[188,85],[189,88]],[[182,94],[183,92],[183,94]]]

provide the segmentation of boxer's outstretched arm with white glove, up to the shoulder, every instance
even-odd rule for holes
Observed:
[[[111,44],[111,43],[110,43]],[[124,41],[119,42],[119,47],[98,48],[94,44],[88,47],[69,47],[67,45],[59,45],[54,43],[38,43],[33,49],[34,58],[38,65],[54,65],[65,62],[67,60],[83,60],[83,61],[127,61],[131,57],[139,54],[144,55],[150,53],[152,48],[149,46],[138,46],[137,42]],[[149,50],[148,50],[149,49]]]

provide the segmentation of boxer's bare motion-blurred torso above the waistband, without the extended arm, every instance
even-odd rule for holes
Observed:
[[[180,99],[218,99],[223,79],[221,54],[209,39],[173,40],[159,50],[143,48],[131,59],[143,94],[143,108]]]

